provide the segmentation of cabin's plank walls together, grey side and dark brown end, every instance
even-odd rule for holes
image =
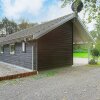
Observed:
[[[32,69],[33,65],[35,70],[72,65],[73,24],[69,21],[37,41],[27,42],[25,53],[22,52],[22,43],[16,43],[15,50],[15,54],[11,55],[9,45],[5,45],[0,61],[29,69]]]

